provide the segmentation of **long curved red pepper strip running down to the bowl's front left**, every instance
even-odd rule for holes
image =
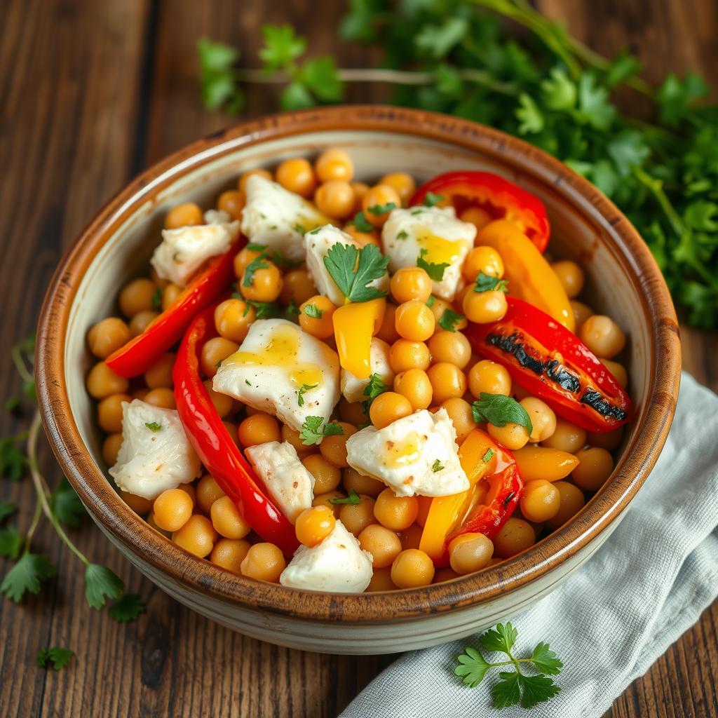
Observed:
[[[291,556],[299,546],[294,526],[276,507],[242,452],[230,437],[200,377],[200,353],[217,336],[215,307],[192,320],[174,362],[174,401],[187,438],[202,464],[237,505],[242,516],[264,541]]]

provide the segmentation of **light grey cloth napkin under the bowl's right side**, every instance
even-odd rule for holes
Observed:
[[[491,706],[454,676],[472,639],[406,653],[342,718],[599,717],[696,622],[718,595],[718,396],[684,373],[676,417],[651,476],[605,544],[551,595],[520,615],[515,656],[550,643],[561,692],[531,710]],[[489,661],[499,661],[489,654]]]

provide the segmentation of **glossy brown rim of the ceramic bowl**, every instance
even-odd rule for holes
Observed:
[[[554,189],[607,233],[614,254],[625,264],[643,297],[640,311],[652,327],[648,348],[652,376],[648,380],[651,399],[638,414],[637,438],[626,447],[612,480],[581,513],[536,546],[488,572],[419,589],[361,595],[288,589],[226,572],[183,551],[136,516],[95,465],[70,413],[64,375],[70,307],[80,279],[121,218],[193,167],[241,146],[336,129],[445,141],[553,183]],[[45,297],[38,337],[37,386],[45,431],[83,503],[115,541],[177,582],[219,600],[257,612],[325,622],[391,623],[489,602],[576,554],[615,521],[648,477],[668,434],[680,375],[676,316],[666,284],[648,247],[612,202],[566,165],[519,139],[459,118],[385,106],[319,108],[266,116],[200,139],[147,169],[109,200],[65,254]]]

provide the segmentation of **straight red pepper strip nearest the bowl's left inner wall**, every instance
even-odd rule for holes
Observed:
[[[206,268],[144,332],[108,356],[105,360],[108,367],[127,378],[148,370],[160,355],[182,338],[192,317],[214,302],[233,280],[234,258],[245,243],[246,238],[240,236],[228,251],[211,258]]]

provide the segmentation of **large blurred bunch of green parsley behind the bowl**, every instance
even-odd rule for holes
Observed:
[[[205,106],[241,111],[247,82],[284,85],[282,109],[340,102],[346,83],[385,83],[398,105],[520,136],[616,202],[689,322],[718,325],[718,106],[699,75],[649,85],[633,55],[602,57],[522,0],[349,0],[340,36],[378,47],[381,67],[300,61],[307,42],[289,25],[264,28],[261,70],[236,68],[236,50],[202,39]],[[648,122],[619,110],[619,85],[651,100]]]

